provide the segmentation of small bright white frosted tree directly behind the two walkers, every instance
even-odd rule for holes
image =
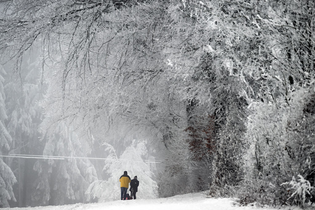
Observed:
[[[157,197],[157,183],[152,179],[154,174],[142,158],[147,152],[146,140],[133,140],[119,158],[116,156],[115,149],[109,144],[106,145],[110,154],[109,160],[105,161],[104,170],[110,174],[110,177],[107,180],[97,180],[92,183],[86,191],[87,196],[96,197],[99,201],[118,200],[120,198],[119,178],[124,171],[127,171],[131,179],[134,176],[138,177],[139,197]]]

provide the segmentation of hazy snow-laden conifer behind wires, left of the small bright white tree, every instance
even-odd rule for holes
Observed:
[[[43,155],[73,158],[49,159],[35,164],[34,170],[39,172],[39,177],[32,199],[41,205],[86,202],[84,192],[90,183],[98,179],[88,159],[76,158],[90,154],[89,140],[72,129],[59,122],[58,127],[53,129],[54,133],[45,137],[47,142]]]

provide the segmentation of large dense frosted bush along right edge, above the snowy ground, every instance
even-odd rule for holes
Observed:
[[[244,204],[257,201],[276,206],[293,199],[305,207],[307,202],[315,200],[315,190],[311,187],[314,186],[315,116],[309,111],[314,95],[300,89],[289,98],[289,105],[281,100],[279,105],[252,104],[254,112],[248,117],[245,134],[249,148],[243,156],[246,186],[239,195]],[[296,174],[300,174],[298,180],[286,183]],[[258,188],[255,183],[259,183]],[[284,183],[290,184],[294,193]],[[247,194],[249,189],[253,189],[252,193]]]

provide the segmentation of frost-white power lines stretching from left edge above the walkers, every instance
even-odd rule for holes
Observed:
[[[72,156],[49,156],[49,155],[21,155],[21,154],[3,154],[0,157],[20,157],[20,158],[35,158],[35,159],[88,159],[88,160],[110,160],[110,161],[132,161],[132,162],[146,162],[146,163],[162,163],[159,160],[142,160],[133,161],[129,159],[119,159],[119,158],[100,158],[100,157],[72,157]]]

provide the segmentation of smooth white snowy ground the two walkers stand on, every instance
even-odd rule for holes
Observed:
[[[104,203],[77,203],[64,206],[10,208],[10,210],[301,210],[298,207],[271,208],[239,206],[228,198],[207,198],[203,193],[185,194],[169,198],[110,201]]]

